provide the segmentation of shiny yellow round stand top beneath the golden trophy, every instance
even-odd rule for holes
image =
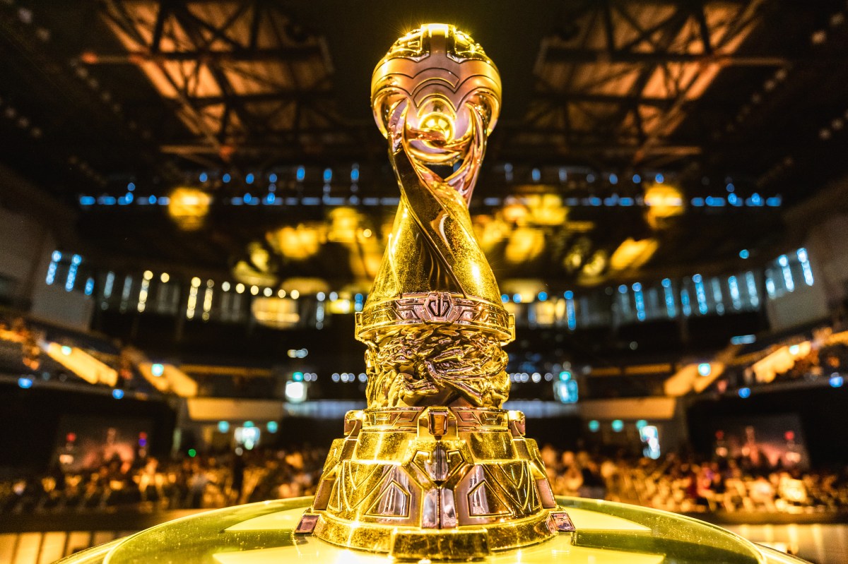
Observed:
[[[575,528],[520,549],[498,550],[487,564],[803,564],[722,528],[667,511],[557,497]],[[164,523],[69,556],[61,564],[386,564],[404,561],[333,545],[296,528],[311,497],[227,507]],[[408,561],[408,560],[407,560]],[[415,559],[436,564],[437,558]]]

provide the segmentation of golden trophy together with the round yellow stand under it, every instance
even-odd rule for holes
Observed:
[[[368,407],[345,416],[315,498],[206,511],[64,564],[801,562],[689,517],[554,497],[524,416],[501,408],[514,323],[468,214],[499,103],[498,70],[452,25],[401,37],[374,71],[401,199],[356,318]]]

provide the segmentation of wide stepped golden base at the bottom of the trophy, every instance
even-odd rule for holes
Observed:
[[[349,412],[300,534],[401,560],[473,560],[573,530],[521,412]]]

